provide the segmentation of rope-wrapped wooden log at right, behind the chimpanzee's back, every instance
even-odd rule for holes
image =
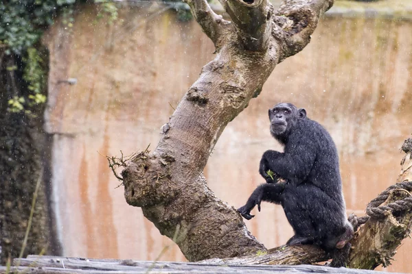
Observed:
[[[382,217],[371,216],[352,240],[352,252],[348,264],[351,268],[375,269],[380,264],[388,266],[402,240],[411,232],[412,139],[405,140],[402,150],[407,155],[402,159],[399,183],[395,186],[405,187],[391,189],[379,210],[369,210],[370,205],[368,206],[367,212],[371,211],[369,214],[383,211]],[[377,200],[379,199],[374,199]]]

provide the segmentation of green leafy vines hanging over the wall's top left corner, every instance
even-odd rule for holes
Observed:
[[[8,86],[10,112],[31,114],[32,108],[45,103],[44,95],[47,82],[47,64],[41,48],[40,39],[44,30],[52,25],[61,14],[62,23],[72,27],[73,10],[76,0],[9,0],[0,2],[0,70],[10,77]],[[101,12],[98,18],[105,17],[108,23],[117,19],[117,8],[112,1],[94,0]],[[21,62],[19,62],[21,61]],[[3,64],[2,64],[3,63]],[[25,92],[18,90],[25,89]],[[3,92],[3,91],[2,91]]]

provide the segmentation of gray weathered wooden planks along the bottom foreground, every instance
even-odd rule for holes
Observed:
[[[98,260],[86,258],[67,258],[55,256],[28,256],[25,259],[13,261],[11,273],[174,273],[194,272],[198,274],[211,273],[352,273],[372,274],[379,271],[362,269],[334,269],[317,265],[251,265],[251,264],[208,264],[196,262],[152,262],[136,260]],[[0,274],[6,273],[6,268],[0,266]]]

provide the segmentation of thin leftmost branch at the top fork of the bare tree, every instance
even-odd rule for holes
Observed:
[[[206,0],[183,0],[183,2],[190,6],[190,10],[201,25],[203,32],[214,42],[216,48],[219,48],[223,26],[229,25],[230,22],[211,10]]]

